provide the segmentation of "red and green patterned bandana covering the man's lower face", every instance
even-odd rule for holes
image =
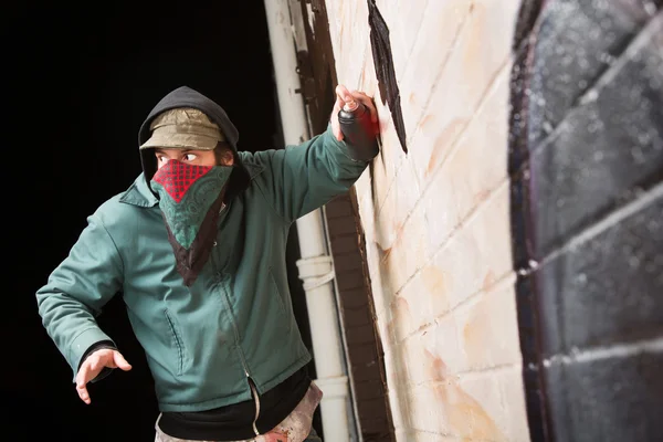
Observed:
[[[230,166],[192,166],[170,160],[155,173],[150,186],[172,245],[177,271],[190,286],[207,262],[223,207]]]

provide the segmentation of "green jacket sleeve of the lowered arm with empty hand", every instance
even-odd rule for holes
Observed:
[[[115,243],[101,219],[92,215],[69,256],[36,292],[42,323],[71,366],[74,380],[91,347],[115,346],[95,317],[122,282],[123,263]]]

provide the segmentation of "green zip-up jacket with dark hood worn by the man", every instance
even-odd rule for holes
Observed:
[[[151,119],[173,107],[199,108],[217,123],[238,166],[215,245],[196,282],[187,287],[176,271],[149,188],[156,160],[148,151],[133,185],[87,218],[36,301],[75,378],[90,348],[114,345],[95,318],[120,293],[145,349],[159,409],[203,411],[250,400],[250,380],[262,394],[311,360],[288,292],[288,230],[297,218],[347,191],[367,162],[352,159],[330,128],[298,146],[238,151],[238,130],[225,112],[189,87],[155,106],[138,145],[150,136]]]

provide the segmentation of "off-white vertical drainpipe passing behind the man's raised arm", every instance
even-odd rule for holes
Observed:
[[[309,139],[304,101],[296,90],[296,50],[287,0],[264,0],[270,44],[286,145]],[[332,112],[332,109],[329,109]],[[350,440],[351,415],[348,377],[345,372],[343,345],[334,292],[334,266],[328,254],[322,211],[315,210],[296,222],[302,259],[297,262],[304,282],[315,355],[316,385],[323,390],[320,403],[323,440]]]

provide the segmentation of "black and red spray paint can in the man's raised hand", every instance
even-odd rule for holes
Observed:
[[[377,125],[368,107],[357,101],[346,103],[338,113],[338,123],[352,158],[368,161],[378,154]]]

